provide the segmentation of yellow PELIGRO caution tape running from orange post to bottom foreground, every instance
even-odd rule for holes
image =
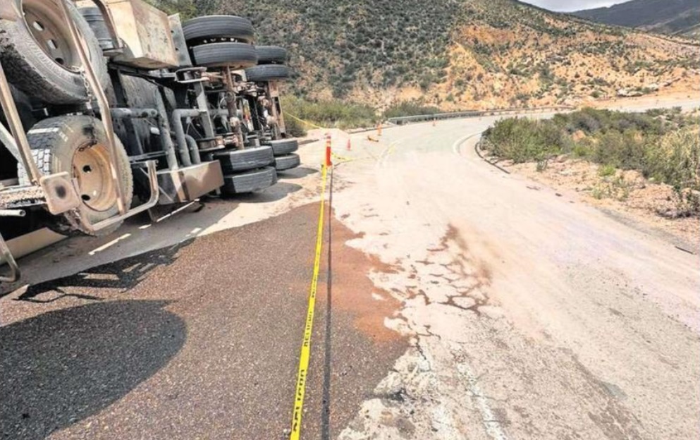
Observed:
[[[290,440],[299,440],[302,429],[302,415],[304,410],[304,395],[306,392],[306,380],[309,372],[309,358],[311,357],[311,335],[314,329],[314,311],[316,309],[316,291],[319,283],[319,270],[321,268],[321,248],[324,238],[324,206],[326,194],[326,176],[328,167],[323,167],[321,176],[321,211],[319,212],[319,228],[316,236],[316,257],[314,259],[314,275],[311,279],[311,289],[309,291],[309,307],[306,314],[306,325],[304,327],[304,339],[302,340],[302,350],[299,357],[299,372],[297,374],[297,389],[294,398],[294,412],[292,415],[292,430]]]

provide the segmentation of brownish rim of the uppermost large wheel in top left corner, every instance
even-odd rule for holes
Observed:
[[[59,5],[47,0],[20,0],[20,6],[27,29],[44,53],[62,68],[77,70],[80,56]]]

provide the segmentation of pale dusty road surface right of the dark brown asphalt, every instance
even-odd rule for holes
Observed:
[[[493,119],[355,137],[336,212],[395,273],[412,348],[341,436],[694,439],[699,257],[484,164]],[[417,367],[416,367],[417,366]]]

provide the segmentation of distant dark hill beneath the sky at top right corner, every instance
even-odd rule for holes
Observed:
[[[700,2],[697,0],[632,0],[572,14],[608,25],[700,37]]]

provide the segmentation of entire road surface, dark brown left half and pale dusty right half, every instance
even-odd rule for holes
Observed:
[[[698,257],[485,164],[492,122],[339,152],[304,438],[694,438]],[[284,438],[321,143],[302,154],[284,188],[27,259],[0,298],[4,438]]]

